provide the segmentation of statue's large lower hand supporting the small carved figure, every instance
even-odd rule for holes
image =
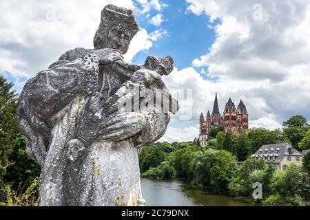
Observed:
[[[108,121],[99,131],[99,135],[102,135],[101,138],[103,139],[119,142],[141,132],[146,125],[147,122],[143,113],[121,113]]]

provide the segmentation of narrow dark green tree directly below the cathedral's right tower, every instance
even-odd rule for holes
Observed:
[[[249,136],[247,135],[247,131],[242,129],[236,140],[236,155],[238,157],[238,161],[242,162],[247,159],[249,155]]]

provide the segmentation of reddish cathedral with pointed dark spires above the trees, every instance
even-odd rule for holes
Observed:
[[[204,118],[203,113],[201,113],[199,118],[199,142],[201,146],[206,146],[209,140],[209,132],[211,127],[218,127],[223,129],[225,133],[232,131],[238,135],[241,129],[245,131],[249,130],[249,114],[247,113],[247,108],[240,100],[238,107],[235,106],[231,98],[225,104],[223,115],[220,113],[218,108],[218,94],[216,94],[212,113],[208,111],[207,118]]]

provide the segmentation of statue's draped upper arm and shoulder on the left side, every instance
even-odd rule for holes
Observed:
[[[28,98],[39,115],[50,117],[78,94],[94,93],[98,82],[99,60],[93,54],[86,54],[37,74],[30,85]]]

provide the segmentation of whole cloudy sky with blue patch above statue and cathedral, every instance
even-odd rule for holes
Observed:
[[[1,0],[0,75],[20,93],[65,51],[92,48],[107,3],[132,9],[140,27],[126,61],[174,58],[163,79],[187,99],[178,97],[181,109],[161,141],[198,137],[216,92],[221,111],[229,97],[242,99],[250,127],[310,119],[310,0]]]

